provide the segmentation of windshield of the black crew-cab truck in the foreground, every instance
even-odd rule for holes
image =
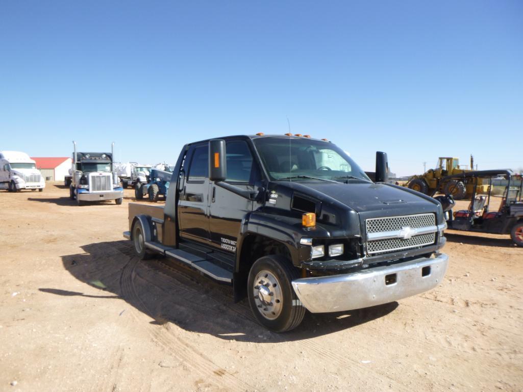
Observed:
[[[312,177],[370,181],[354,160],[332,143],[267,137],[254,140],[254,144],[271,180]]]

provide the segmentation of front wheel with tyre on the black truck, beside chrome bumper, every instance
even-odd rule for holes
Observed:
[[[249,305],[261,325],[274,332],[290,331],[300,325],[305,307],[291,285],[298,278],[298,271],[283,257],[256,260],[249,272],[247,291]]]

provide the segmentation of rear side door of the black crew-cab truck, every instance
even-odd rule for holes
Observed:
[[[184,164],[186,172],[178,201],[181,239],[209,243],[209,146],[191,146]]]

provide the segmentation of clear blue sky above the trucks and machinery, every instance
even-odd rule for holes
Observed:
[[[326,137],[366,170],[523,166],[523,2],[0,2],[0,149],[174,163]]]

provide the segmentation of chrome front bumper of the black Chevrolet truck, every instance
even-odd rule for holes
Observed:
[[[435,257],[393,266],[297,279],[292,281],[292,287],[303,306],[312,313],[361,309],[433,289],[445,276],[448,260],[444,253],[436,253]]]

